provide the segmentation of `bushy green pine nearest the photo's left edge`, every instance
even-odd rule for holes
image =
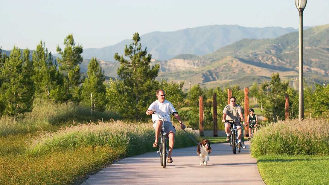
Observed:
[[[31,76],[32,62],[29,50],[21,57],[21,51],[14,46],[9,58],[6,59],[1,74],[5,77],[1,86],[4,92],[4,114],[15,117],[18,114],[32,111],[34,100],[34,84]]]

